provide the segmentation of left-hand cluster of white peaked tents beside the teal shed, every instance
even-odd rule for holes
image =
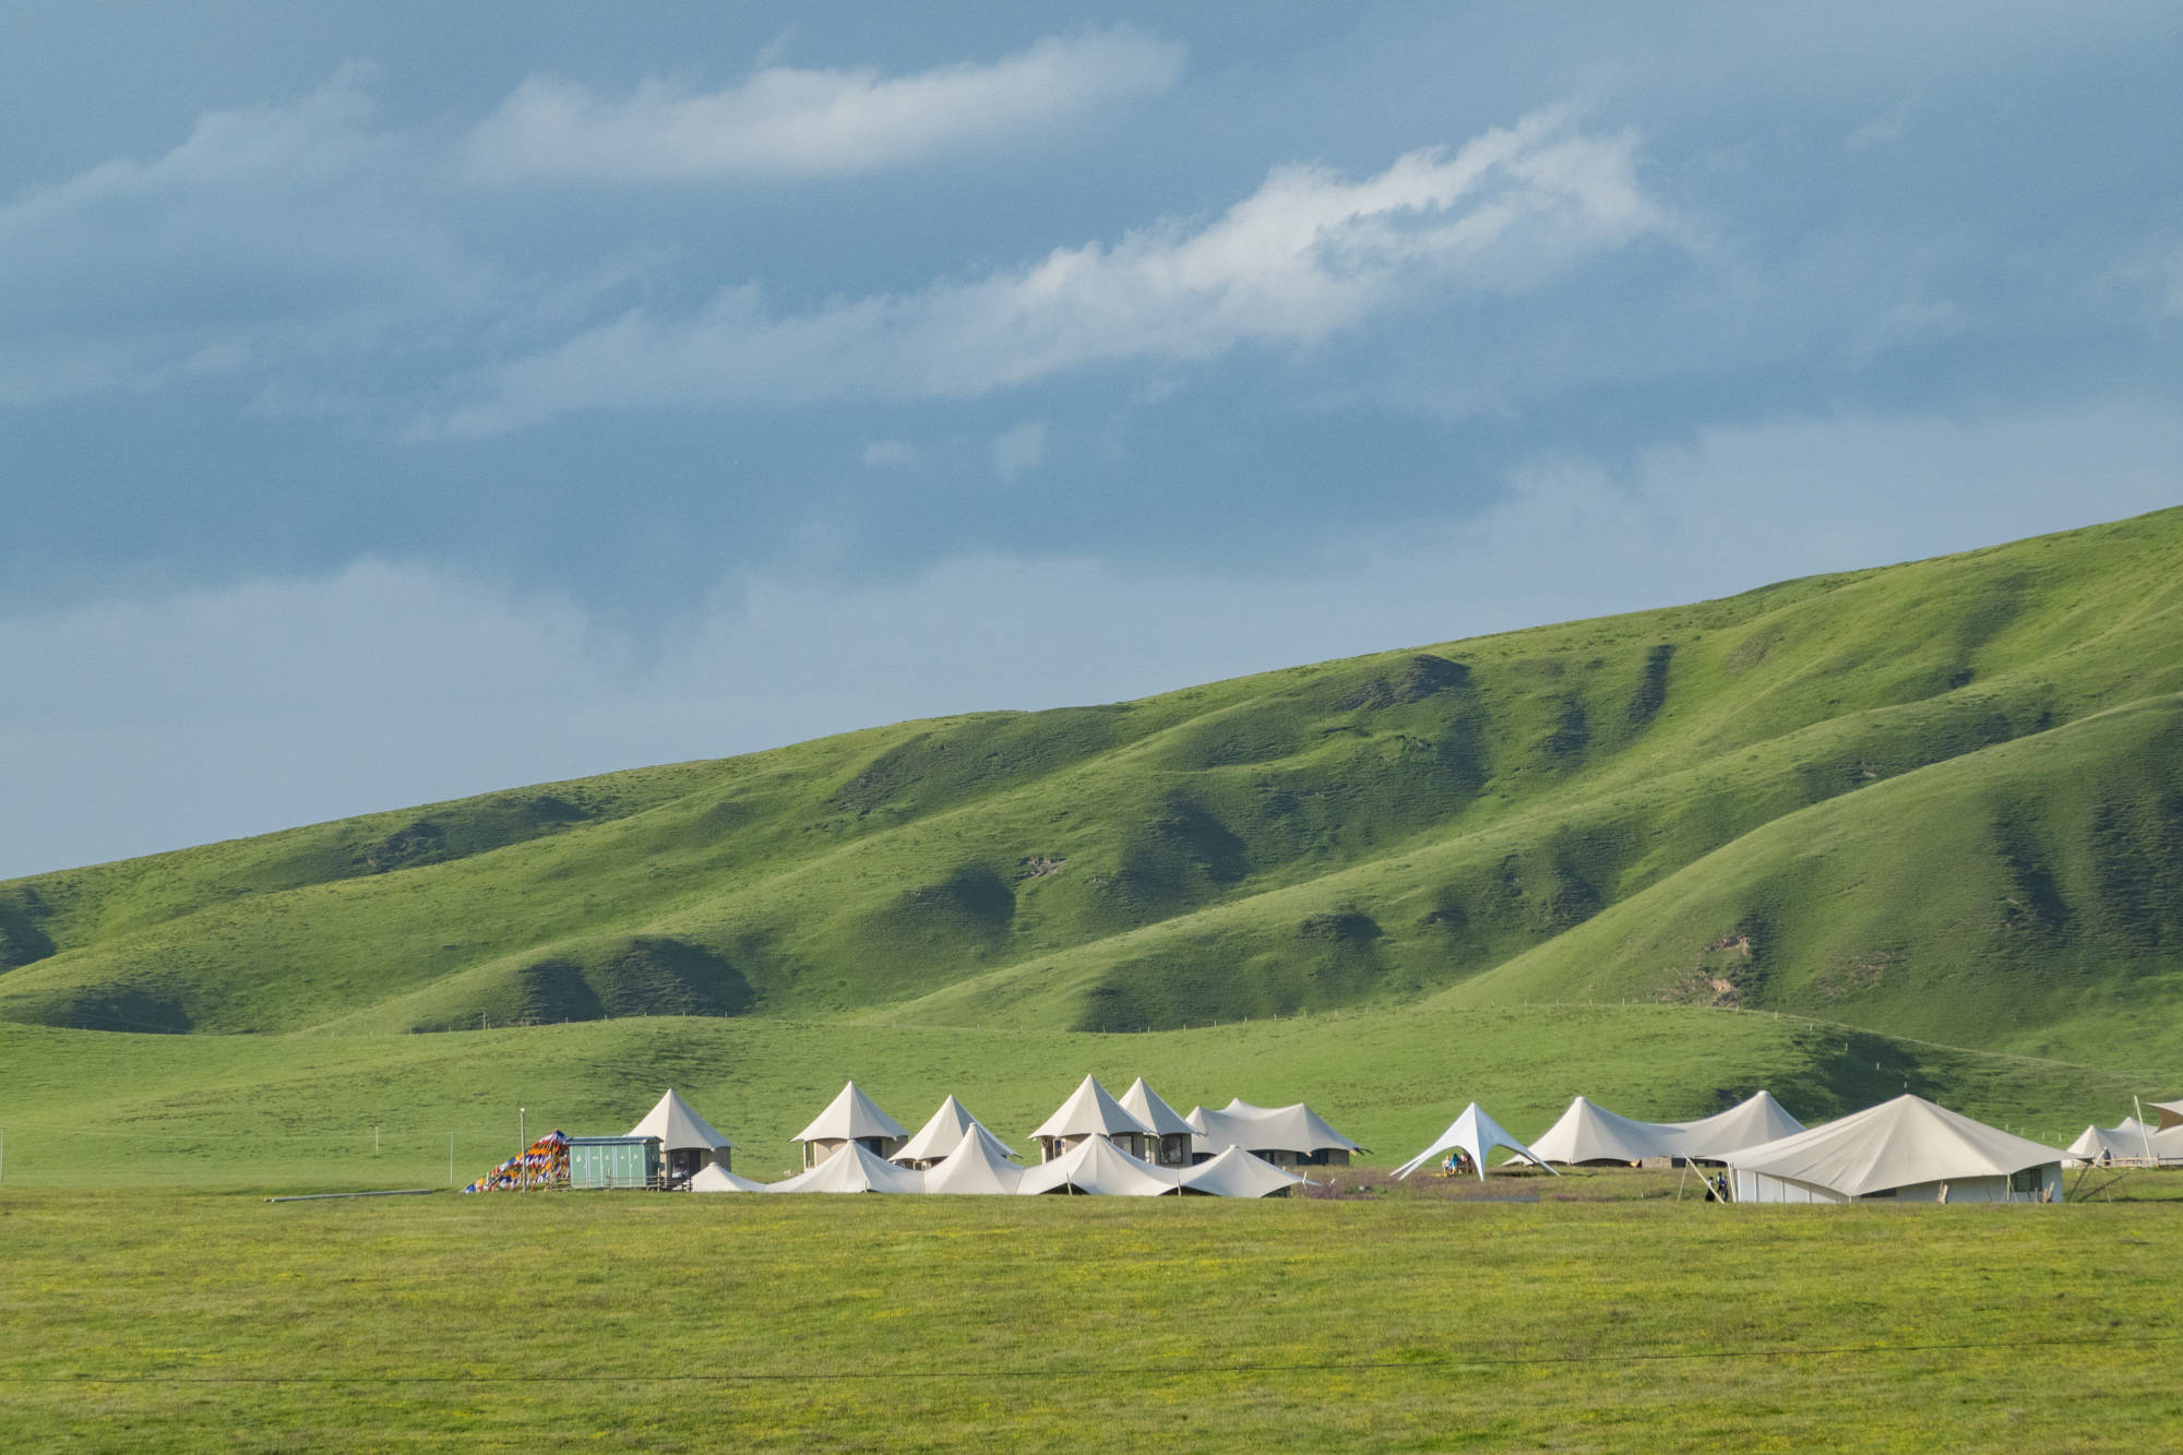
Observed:
[[[1299,1164],[1347,1162],[1362,1145],[1303,1103],[1236,1099],[1218,1112],[1168,1105],[1144,1077],[1113,1097],[1094,1077],[1030,1134],[1039,1162],[947,1097],[912,1136],[849,1081],[792,1140],[803,1171],[782,1182],[733,1173],[733,1145],[672,1088],[629,1136],[659,1138],[668,1182],[699,1193],[1081,1193],[1094,1197],[1281,1197]]]

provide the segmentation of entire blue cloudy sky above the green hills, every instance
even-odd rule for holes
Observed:
[[[0,876],[2183,502],[2168,4],[4,28]]]

